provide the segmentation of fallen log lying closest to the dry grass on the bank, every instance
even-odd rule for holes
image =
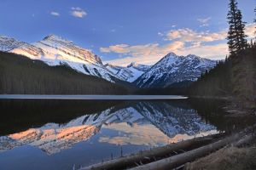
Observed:
[[[246,143],[248,140],[252,139],[251,134],[248,134],[246,138],[241,139],[244,135],[245,135],[245,132],[236,133],[228,138],[218,140],[213,144],[207,144],[205,146],[202,146],[201,148],[190,150],[186,153],[182,153],[177,156],[171,156],[159,161],[154,161],[143,166],[134,167],[134,168],[131,168],[130,170],[153,170],[153,169],[165,170],[165,169],[172,169],[175,167],[179,167],[185,164],[186,162],[194,161],[195,159],[200,158],[202,156],[207,156],[213,151],[223,148],[227,144],[231,144],[235,142],[237,145],[241,145]],[[237,140],[238,142],[236,142]]]

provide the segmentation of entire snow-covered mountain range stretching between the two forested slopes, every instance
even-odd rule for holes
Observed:
[[[177,56],[173,53],[167,54],[154,65],[103,65],[102,59],[89,49],[80,48],[75,43],[55,35],[49,35],[34,43],[0,36],[0,51],[40,59],[48,65],[68,65],[85,75],[101,77],[109,82],[131,82],[139,88],[162,88],[175,82],[195,81],[201,73],[216,65],[215,60],[192,54]]]

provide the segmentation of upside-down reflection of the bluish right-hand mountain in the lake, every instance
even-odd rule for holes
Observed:
[[[193,109],[163,102],[140,102],[135,109],[170,138],[177,134],[190,136],[214,129],[212,125],[203,122]]]

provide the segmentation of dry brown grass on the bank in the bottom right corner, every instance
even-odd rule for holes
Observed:
[[[188,163],[186,170],[256,170],[256,147],[224,148]]]

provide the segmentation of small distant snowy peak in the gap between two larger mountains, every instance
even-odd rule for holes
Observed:
[[[106,64],[105,66],[109,71],[112,71],[116,77],[125,82],[134,82],[151,67],[150,65],[141,65],[135,62],[126,67],[111,64]]]

